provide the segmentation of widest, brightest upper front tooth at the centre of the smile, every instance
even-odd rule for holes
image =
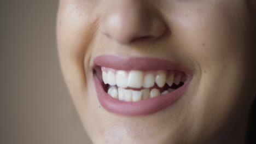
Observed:
[[[141,88],[143,83],[143,72],[131,70],[128,75],[128,86],[131,88]]]

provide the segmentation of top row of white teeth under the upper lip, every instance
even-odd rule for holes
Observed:
[[[164,87],[165,83],[172,86],[179,85],[182,80],[182,73],[174,74],[174,71],[141,71],[141,70],[113,70],[102,68],[102,79],[110,86],[117,85],[122,88],[150,88],[156,83],[158,87]]]

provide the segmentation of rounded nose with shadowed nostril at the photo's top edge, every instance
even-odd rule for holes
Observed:
[[[122,0],[103,17],[102,33],[122,44],[161,37],[166,31],[161,17],[139,0]]]

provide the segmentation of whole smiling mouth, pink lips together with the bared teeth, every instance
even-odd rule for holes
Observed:
[[[187,91],[191,71],[173,62],[149,57],[94,59],[98,100],[109,112],[140,116],[166,109]]]

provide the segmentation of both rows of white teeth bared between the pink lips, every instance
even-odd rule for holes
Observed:
[[[182,73],[176,73],[174,71],[125,71],[102,67],[102,80],[105,84],[109,84],[108,94],[111,95],[111,97],[124,101],[139,101],[165,95],[175,90],[168,88],[161,93],[158,88],[153,88],[155,83],[159,88],[164,87],[166,83],[171,87],[173,83],[179,85],[179,83],[184,82],[187,78],[184,77]],[[142,88],[141,91],[135,91],[125,89],[127,87],[144,87],[144,89]]]

